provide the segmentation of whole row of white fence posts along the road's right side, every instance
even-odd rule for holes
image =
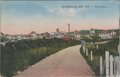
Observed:
[[[94,60],[93,57],[93,51],[90,51],[90,54],[88,53],[88,50],[84,45],[83,47],[83,53],[85,56],[90,56],[90,61],[92,62]],[[98,45],[96,45],[96,49],[99,49]],[[115,77],[116,76],[116,60],[113,55],[110,55],[109,51],[105,51],[105,54],[103,56],[99,56],[99,74],[101,77]]]

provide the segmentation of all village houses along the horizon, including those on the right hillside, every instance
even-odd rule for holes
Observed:
[[[87,34],[87,36],[94,36],[96,35],[96,31],[95,29],[91,29],[89,30],[89,34]],[[116,32],[115,31],[107,31],[107,30],[102,30],[101,32],[99,32],[97,35],[101,38],[101,39],[112,39],[113,37],[116,36]],[[80,31],[72,31],[72,32],[64,32],[64,31],[60,31],[59,28],[56,29],[56,32],[45,32],[45,33],[37,33],[35,31],[30,32],[29,34],[18,34],[18,35],[8,35],[8,34],[4,34],[4,33],[0,33],[0,36],[7,38],[10,42],[15,42],[18,40],[23,40],[23,39],[42,39],[42,38],[46,38],[46,39],[54,39],[54,38],[59,38],[59,39],[64,39],[64,40],[69,40],[69,39],[74,39],[74,40],[80,40],[82,39]]]

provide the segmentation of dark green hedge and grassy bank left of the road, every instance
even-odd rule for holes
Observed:
[[[71,46],[79,44],[71,40]],[[14,45],[14,47],[13,47]],[[68,47],[68,42],[62,39],[21,40],[1,45],[1,68],[5,77],[12,77],[17,71],[23,71],[47,56]]]

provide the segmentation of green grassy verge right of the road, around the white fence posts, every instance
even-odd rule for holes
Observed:
[[[85,45],[85,47],[88,49],[88,53],[90,54],[91,51],[93,51],[93,61],[90,60],[90,55],[86,56],[85,53],[83,53],[83,48],[80,49],[81,54],[86,59],[88,64],[91,66],[92,70],[94,71],[96,76],[99,76],[100,74],[100,56],[105,59],[105,51],[109,51],[110,55],[116,56],[118,55],[117,52],[117,46],[118,46],[118,38],[114,38],[110,40],[110,42],[106,44],[100,44],[99,49],[96,48],[96,45]]]

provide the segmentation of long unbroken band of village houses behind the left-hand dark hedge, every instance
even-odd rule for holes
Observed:
[[[35,31],[30,32],[29,34],[18,34],[18,35],[8,35],[8,34],[3,34],[1,32],[0,36],[4,36],[8,38],[11,42],[18,41],[18,40],[23,40],[23,39],[54,39],[54,38],[59,38],[59,39],[64,39],[68,40],[70,39],[75,39],[75,40],[80,40],[80,33],[79,31],[74,31],[74,32],[63,32],[60,31],[59,28],[56,29],[56,32],[45,32],[45,33],[37,33]]]

